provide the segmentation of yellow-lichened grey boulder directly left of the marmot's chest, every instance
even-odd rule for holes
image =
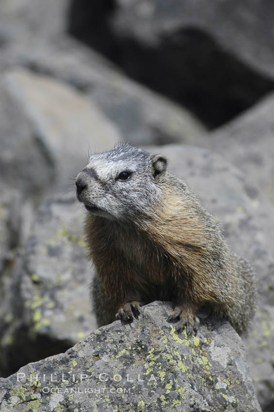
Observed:
[[[21,279],[26,322],[33,330],[75,344],[96,328],[89,282],[93,272],[77,199],[61,197],[37,212]]]

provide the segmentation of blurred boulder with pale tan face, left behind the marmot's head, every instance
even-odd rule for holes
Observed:
[[[52,182],[84,166],[89,146],[101,151],[121,140],[79,92],[25,71],[2,77],[0,120],[0,173],[24,192],[52,190]]]

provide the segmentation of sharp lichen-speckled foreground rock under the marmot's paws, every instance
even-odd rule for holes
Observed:
[[[132,324],[114,322],[0,379],[0,411],[260,411],[230,325],[209,322],[187,339],[166,322],[170,311],[154,302]]]

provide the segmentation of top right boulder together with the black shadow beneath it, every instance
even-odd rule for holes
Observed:
[[[274,89],[273,15],[273,1],[74,0],[68,30],[213,128]]]

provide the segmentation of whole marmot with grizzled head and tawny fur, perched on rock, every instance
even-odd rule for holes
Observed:
[[[254,314],[247,260],[232,254],[219,225],[167,160],[128,143],[91,156],[76,178],[88,210],[87,245],[99,326],[131,320],[140,304],[172,301],[177,331],[197,331],[197,310],[227,319],[239,333]]]

